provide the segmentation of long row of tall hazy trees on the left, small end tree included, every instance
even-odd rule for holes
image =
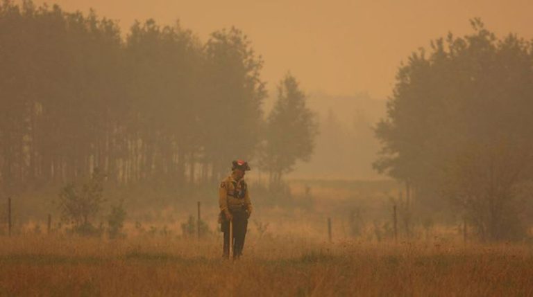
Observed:
[[[287,74],[265,117],[263,60],[242,31],[201,42],[178,21],[150,19],[121,36],[94,11],[0,4],[4,192],[90,177],[95,168],[110,183],[180,188],[220,179],[237,158],[257,160],[274,179],[309,158],[317,124],[303,91]],[[280,143],[271,132],[280,125],[302,136]],[[294,147],[287,160],[284,147]]]

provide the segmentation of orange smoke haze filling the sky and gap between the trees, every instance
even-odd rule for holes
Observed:
[[[525,0],[56,3],[67,11],[93,8],[98,15],[119,21],[123,35],[135,20],[149,18],[161,25],[178,20],[202,40],[221,28],[243,30],[264,59],[261,74],[269,90],[265,111],[276,97],[276,84],[290,71],[301,82],[320,122],[326,124],[321,125],[311,162],[299,163],[292,177],[378,178],[371,169],[378,149],[371,127],[385,114],[385,99],[391,95],[400,62],[416,48],[428,47],[431,39],[448,32],[468,33],[468,20],[473,17],[480,17],[498,35],[529,36],[533,28],[528,13],[533,4]],[[334,135],[331,129],[338,131]],[[332,143],[346,152],[332,152]],[[328,167],[334,165],[330,161],[334,154],[343,160],[335,170]]]

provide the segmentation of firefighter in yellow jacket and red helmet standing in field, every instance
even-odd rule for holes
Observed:
[[[252,213],[252,203],[248,194],[248,185],[244,174],[250,170],[248,162],[237,160],[232,162],[231,174],[223,179],[219,187],[219,206],[221,229],[224,233],[223,255],[230,258],[232,244],[233,258],[239,258],[244,248],[248,218]],[[232,237],[230,239],[230,222]]]

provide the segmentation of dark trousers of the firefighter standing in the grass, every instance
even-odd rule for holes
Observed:
[[[233,258],[239,258],[244,248],[244,238],[246,238],[246,229],[248,228],[248,214],[244,210],[232,211],[233,216]],[[223,254],[224,257],[230,258],[230,222],[226,217],[222,219],[222,232],[224,233]]]

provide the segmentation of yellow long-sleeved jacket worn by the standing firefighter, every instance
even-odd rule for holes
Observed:
[[[223,213],[242,208],[248,211],[248,215],[250,215],[252,202],[246,181],[244,179],[236,181],[232,174],[223,179],[219,186],[219,206]]]

